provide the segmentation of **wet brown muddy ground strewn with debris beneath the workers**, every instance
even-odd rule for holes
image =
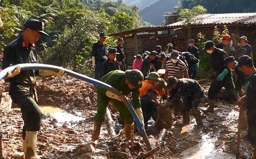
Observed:
[[[208,86],[203,85],[207,90]],[[40,105],[60,108],[62,114],[43,113],[42,129],[38,134],[37,153],[41,158],[137,158],[147,147],[139,134],[134,141],[126,141],[124,127],[118,123],[118,113],[111,109],[117,136],[110,137],[106,123],[101,128],[98,143],[91,143],[93,117],[97,110],[97,93],[92,84],[71,77],[48,77],[37,80]],[[6,87],[6,90],[8,88]],[[205,108],[207,98],[202,99]],[[15,108],[15,104],[13,104]],[[43,108],[43,106],[42,106]],[[215,112],[202,114],[203,128],[191,124],[182,127],[181,116],[173,116],[174,126],[168,130],[164,141],[153,133],[150,120],[147,134],[153,148],[160,146],[155,158],[234,158],[238,106],[217,101]],[[1,108],[3,155],[5,158],[24,158],[22,150],[21,112]],[[50,112],[51,113],[51,112]],[[65,114],[64,114],[65,113]],[[246,131],[241,132],[241,158],[250,158],[251,145]]]

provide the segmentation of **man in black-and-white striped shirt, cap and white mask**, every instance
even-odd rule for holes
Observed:
[[[177,79],[189,78],[187,66],[183,61],[179,60],[179,53],[176,50],[170,54],[170,60],[166,62],[165,70],[165,81],[170,76],[176,77]]]

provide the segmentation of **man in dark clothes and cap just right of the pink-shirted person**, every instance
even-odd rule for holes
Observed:
[[[140,71],[143,72],[144,77],[148,76],[148,74],[151,72],[151,69],[153,69],[156,72],[154,65],[151,63],[151,61],[154,60],[156,56],[157,52],[151,51],[149,56],[147,56],[145,60],[143,60]]]

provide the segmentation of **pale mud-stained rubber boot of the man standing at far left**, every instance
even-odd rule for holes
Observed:
[[[26,131],[25,159],[40,159],[35,154],[36,136],[37,136],[37,131]]]

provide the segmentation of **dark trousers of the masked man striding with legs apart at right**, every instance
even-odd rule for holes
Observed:
[[[222,87],[224,87],[229,94],[230,101],[236,102],[237,100],[234,94],[234,82],[232,77],[225,77],[222,81],[217,81],[216,79],[214,79],[208,90],[208,98],[210,100],[216,99]]]

